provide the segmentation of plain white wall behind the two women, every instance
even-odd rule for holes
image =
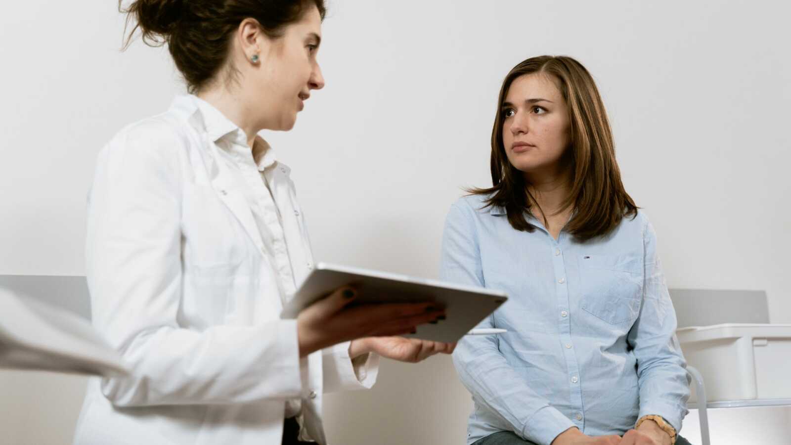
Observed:
[[[668,284],[766,290],[771,321],[791,323],[789,15],[770,0],[331,0],[327,87],[266,137],[293,168],[317,258],[435,277],[449,205],[490,183],[501,79],[529,56],[572,55],[600,86]],[[97,151],[183,91],[167,51],[120,53],[122,31],[114,1],[0,15],[2,274],[84,274]],[[0,372],[0,442],[70,443],[83,384]],[[384,363],[374,390],[327,397],[326,417],[336,444],[450,445],[470,406],[441,357]],[[788,443],[788,410],[710,416],[713,443]]]

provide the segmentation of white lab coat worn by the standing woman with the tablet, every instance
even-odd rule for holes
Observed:
[[[93,322],[134,375],[93,378],[75,443],[276,445],[293,398],[302,434],[326,443],[321,394],[373,386],[377,357],[355,369],[345,343],[299,358],[296,321],[278,318],[276,272],[197,101],[177,98],[100,153]],[[269,185],[300,283],[313,260],[289,173],[275,163]]]

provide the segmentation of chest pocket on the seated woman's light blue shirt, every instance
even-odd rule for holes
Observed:
[[[642,255],[582,255],[579,268],[582,310],[611,325],[638,318],[643,287]]]

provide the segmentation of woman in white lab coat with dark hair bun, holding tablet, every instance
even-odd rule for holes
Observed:
[[[321,394],[369,388],[430,304],[351,305],[346,287],[281,320],[313,259],[290,169],[257,133],[290,130],[314,89],[321,0],[138,0],[191,94],[123,128],[90,193],[93,321],[134,373],[89,384],[75,443],[327,443]],[[137,28],[137,27],[136,27]],[[134,29],[133,29],[134,32]]]

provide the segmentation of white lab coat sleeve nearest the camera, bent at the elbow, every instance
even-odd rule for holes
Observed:
[[[133,370],[104,378],[102,392],[123,407],[300,397],[296,321],[180,327],[183,148],[174,128],[150,120],[97,162],[86,243],[93,321]]]

